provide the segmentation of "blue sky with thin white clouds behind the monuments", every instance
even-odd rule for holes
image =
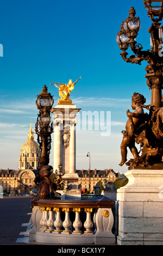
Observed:
[[[58,89],[49,83],[67,83],[82,76],[71,99],[82,108],[81,115],[83,111],[111,112],[111,134],[102,137],[101,131],[82,131],[77,126],[76,167],[89,168],[86,154],[90,151],[91,169],[127,171],[126,165],[118,163],[131,96],[139,92],[148,104],[151,101],[145,78],[147,63],[124,62],[115,40],[131,6],[141,21],[136,41],[147,50],[147,30],[152,22],[141,0],[1,1],[0,168],[18,168],[31,120],[33,130],[35,127],[35,100],[43,85],[54,95],[55,106]]]

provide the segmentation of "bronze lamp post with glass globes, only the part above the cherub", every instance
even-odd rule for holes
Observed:
[[[161,90],[162,90],[162,68],[163,59],[161,54],[162,48],[162,26],[159,21],[163,16],[163,0],[143,0],[148,16],[153,21],[152,26],[148,29],[151,34],[151,50],[142,51],[141,44],[137,44],[136,36],[141,28],[139,17],[135,17],[136,11],[131,7],[129,16],[122,22],[121,30],[118,32],[116,41],[122,50],[121,56],[124,61],[141,65],[142,60],[147,60],[147,85],[151,89],[151,112],[162,106]],[[135,55],[127,58],[126,52],[130,46]]]

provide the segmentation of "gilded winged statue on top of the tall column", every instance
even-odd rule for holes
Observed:
[[[78,78],[78,80],[74,83],[72,83],[71,79],[69,79],[69,82],[67,84],[64,84],[64,83],[50,83],[50,84],[54,84],[54,86],[59,88],[59,96],[61,97],[61,99],[59,99],[58,102],[60,102],[60,101],[69,101],[70,100],[70,92],[72,92],[72,90],[74,89],[74,85],[79,81],[79,79],[82,79],[82,77],[80,76]]]

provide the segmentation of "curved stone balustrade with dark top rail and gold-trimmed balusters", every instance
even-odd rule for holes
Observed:
[[[114,202],[99,200],[32,201],[29,241],[47,244],[114,244]]]

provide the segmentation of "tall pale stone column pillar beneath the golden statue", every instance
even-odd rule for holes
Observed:
[[[54,172],[59,172],[59,164],[62,164],[62,172],[65,175],[62,180],[69,182],[72,192],[78,191],[78,174],[76,173],[76,114],[80,108],[76,108],[71,102],[64,101],[51,113],[54,115]],[[70,193],[70,192],[69,192]]]

